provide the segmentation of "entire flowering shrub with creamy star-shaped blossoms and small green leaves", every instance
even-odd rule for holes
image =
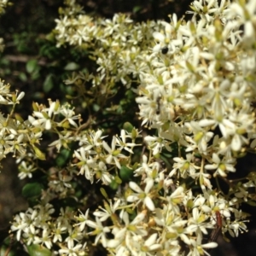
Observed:
[[[31,179],[22,190],[30,207],[10,230],[29,255],[86,255],[98,244],[109,255],[209,255],[211,230],[247,230],[241,204],[255,204],[255,175],[237,182],[230,172],[256,146],[256,3],[190,9],[188,21],[136,24],[67,1],[49,42],[84,61],[65,66],[69,102],[32,102],[23,119],[25,93],[1,81],[10,107],[1,159],[13,154],[20,179]],[[36,79],[38,61],[26,73]]]

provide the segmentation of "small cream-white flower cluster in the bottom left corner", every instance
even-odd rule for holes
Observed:
[[[61,242],[61,255],[84,255],[86,243],[83,246],[81,244],[84,234],[77,227],[73,227],[73,212],[61,208],[60,216],[52,218],[54,212],[50,204],[28,208],[26,212],[15,216],[11,230],[16,232],[18,241],[22,231],[22,239],[26,240],[28,246],[40,244],[50,249],[53,243]]]

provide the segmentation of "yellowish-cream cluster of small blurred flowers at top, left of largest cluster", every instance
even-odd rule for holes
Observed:
[[[153,46],[151,35],[160,27],[160,22],[134,24],[131,18],[121,14],[114,15],[112,20],[94,20],[74,3],[70,3],[65,14],[55,20],[57,47],[70,44],[90,50],[98,66],[96,74],[89,77],[79,74],[77,79],[92,80],[95,86],[108,81],[108,87],[121,81],[129,88],[140,73],[148,70],[148,53]],[[66,81],[67,84],[73,82],[72,79]]]

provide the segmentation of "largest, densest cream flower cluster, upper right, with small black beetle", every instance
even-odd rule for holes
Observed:
[[[161,143],[200,154],[209,163],[202,171],[214,176],[235,172],[236,154],[250,148],[255,135],[253,3],[195,1],[189,22],[172,15],[170,24],[162,22],[165,32],[154,32],[152,67],[140,76],[143,125],[156,128]]]

